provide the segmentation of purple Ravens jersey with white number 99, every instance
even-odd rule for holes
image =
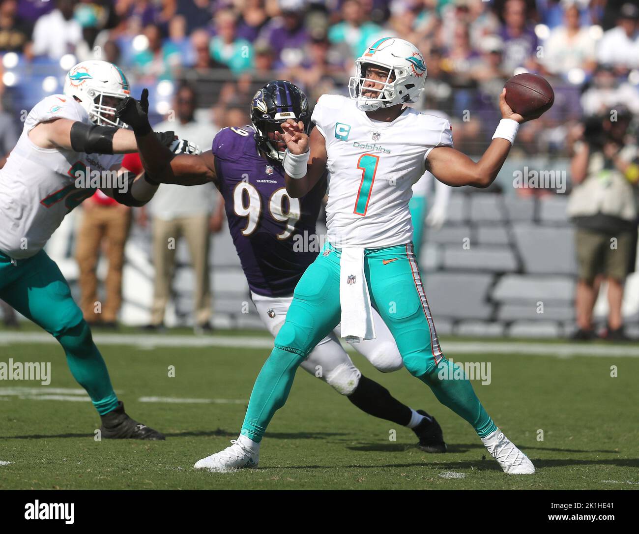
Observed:
[[[215,172],[231,237],[250,290],[281,297],[293,290],[318,251],[315,233],[325,180],[302,198],[286,194],[284,170],[261,157],[250,126],[220,130],[213,139]]]

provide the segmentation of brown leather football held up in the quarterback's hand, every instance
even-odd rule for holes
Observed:
[[[537,74],[518,74],[506,82],[506,103],[525,117],[538,117],[555,102],[555,91]]]

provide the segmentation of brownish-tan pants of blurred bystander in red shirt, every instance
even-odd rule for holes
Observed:
[[[80,308],[87,322],[114,322],[122,303],[122,268],[124,246],[131,226],[131,210],[127,206],[88,205],[83,210],[81,228],[77,237],[75,258],[80,268]],[[102,242],[109,260],[104,281],[106,298],[102,313],[96,313],[98,277],[95,269]]]

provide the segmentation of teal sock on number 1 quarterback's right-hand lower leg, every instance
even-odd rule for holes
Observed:
[[[468,421],[479,437],[486,437],[495,432],[497,426],[479,402],[470,381],[461,376],[463,369],[442,357],[433,372],[422,375],[419,379],[433,390],[439,402]]]

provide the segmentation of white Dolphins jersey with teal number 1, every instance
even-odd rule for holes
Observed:
[[[406,107],[393,122],[371,120],[355,100],[322,95],[312,122],[326,139],[327,239],[376,249],[413,237],[408,201],[435,146],[452,146],[450,122]]]

